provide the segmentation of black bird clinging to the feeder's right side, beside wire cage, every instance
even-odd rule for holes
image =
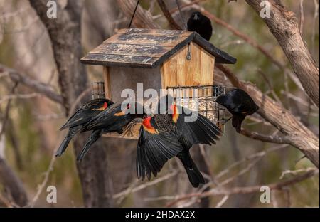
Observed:
[[[238,133],[241,132],[241,123],[245,120],[245,117],[259,110],[250,95],[240,89],[234,89],[225,95],[220,95],[216,102],[231,112],[233,115],[233,127]]]

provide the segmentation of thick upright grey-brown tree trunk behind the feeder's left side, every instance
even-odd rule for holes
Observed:
[[[46,0],[30,0],[31,6],[46,26],[52,42],[55,63],[59,73],[59,85],[66,115],[77,97],[87,89],[85,66],[80,63],[81,15],[83,0],[68,1],[65,9],[58,6],[57,18],[48,18]],[[74,139],[75,154],[82,149],[88,134]],[[102,148],[102,139],[92,145],[90,154],[77,164],[85,206],[112,206],[110,182],[107,175],[107,151]]]

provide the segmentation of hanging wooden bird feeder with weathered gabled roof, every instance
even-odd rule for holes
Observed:
[[[118,102],[124,99],[122,90],[137,90],[137,83],[158,93],[196,88],[205,97],[215,91],[215,63],[234,64],[236,59],[195,32],[129,28],[117,31],[81,62],[103,66],[106,97]],[[117,137],[137,139],[139,125],[134,128]]]

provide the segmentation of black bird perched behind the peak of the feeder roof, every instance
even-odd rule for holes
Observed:
[[[188,31],[196,31],[202,38],[207,41],[212,36],[212,25],[208,17],[203,16],[200,11],[195,11],[188,19]]]

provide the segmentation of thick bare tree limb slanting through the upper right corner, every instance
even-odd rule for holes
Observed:
[[[262,0],[245,1],[260,14]],[[271,6],[270,18],[263,18],[263,21],[277,38],[304,90],[319,107],[319,68],[316,67],[314,59],[304,44],[297,17],[292,11],[285,9],[279,0],[270,0],[269,2]]]

